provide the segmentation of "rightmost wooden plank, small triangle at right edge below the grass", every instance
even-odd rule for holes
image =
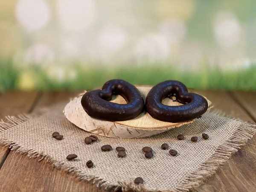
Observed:
[[[256,122],[256,92],[235,91],[231,93],[235,99],[250,113]]]

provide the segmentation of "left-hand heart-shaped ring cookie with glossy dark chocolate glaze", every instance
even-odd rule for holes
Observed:
[[[109,102],[113,95],[121,95],[127,104]],[[107,81],[102,90],[90,90],[81,98],[86,113],[105,121],[125,121],[140,115],[144,110],[144,99],[140,91],[132,84],[113,79]]]

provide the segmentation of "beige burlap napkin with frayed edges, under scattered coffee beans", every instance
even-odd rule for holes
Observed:
[[[198,186],[207,176],[215,173],[247,139],[256,133],[255,125],[238,119],[227,118],[207,111],[194,123],[175,128],[162,134],[143,139],[113,139],[99,137],[91,145],[84,144],[90,133],[77,128],[63,114],[65,103],[46,111],[7,117],[0,123],[0,145],[6,145],[29,157],[47,160],[55,167],[72,172],[81,180],[89,180],[105,189],[134,189],[142,192],[181,192]],[[52,133],[58,131],[63,140],[56,140]],[[202,133],[209,135],[203,140]],[[183,134],[185,140],[177,140]],[[197,136],[198,142],[190,138]],[[169,155],[162,150],[163,143],[178,155]],[[102,152],[102,145],[111,145],[112,151]],[[114,150],[125,147],[127,157],[118,158]],[[150,146],[154,157],[146,159],[141,149]],[[78,159],[68,161],[68,154],[77,154]],[[86,162],[92,160],[89,169]],[[134,179],[142,177],[144,185],[135,185]]]

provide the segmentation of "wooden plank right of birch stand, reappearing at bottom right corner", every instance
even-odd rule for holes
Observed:
[[[227,115],[245,121],[253,119],[228,93],[222,91],[201,92],[213,102],[215,108]],[[198,192],[255,192],[256,191],[256,137],[241,148],[224,166],[195,191]]]

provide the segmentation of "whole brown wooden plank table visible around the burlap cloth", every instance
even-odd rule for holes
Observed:
[[[78,92],[77,92],[78,93]],[[69,101],[74,92],[15,92],[0,95],[0,118],[31,113],[60,100]],[[200,91],[215,108],[245,121],[256,122],[256,93]],[[45,161],[0,147],[0,192],[103,192],[87,182],[53,169]],[[256,137],[239,150],[217,173],[194,191],[255,192]]]

